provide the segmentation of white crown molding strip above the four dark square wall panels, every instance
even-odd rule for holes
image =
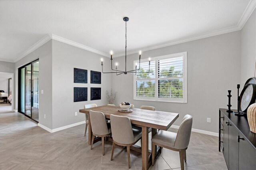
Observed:
[[[85,49],[85,50],[87,50],[87,51],[91,51],[91,52],[96,53],[96,54],[103,55],[103,56],[105,56],[105,57],[109,57],[108,54],[106,54],[106,53],[104,53],[104,52],[102,52],[102,51],[99,51],[99,50],[97,50],[97,49],[93,49],[93,48],[91,48],[91,47],[88,47],[88,46],[86,46],[86,45],[82,45],[82,44],[77,43],[77,42],[73,42],[73,41],[71,41],[71,40],[68,40],[68,39],[66,39],[66,38],[62,38],[62,37],[60,37],[60,36],[56,36],[56,35],[54,35],[54,34],[52,34],[52,39],[53,39],[53,40],[57,40],[57,41],[59,41],[59,42],[67,43],[67,44],[69,44],[69,45],[73,45],[73,46],[78,47],[78,48]]]

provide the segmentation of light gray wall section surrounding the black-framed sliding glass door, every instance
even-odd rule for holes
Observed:
[[[39,58],[39,123],[52,128],[52,40],[38,49],[32,51],[26,57],[15,63],[16,75],[18,68]],[[44,90],[44,94],[41,94]],[[18,92],[18,76],[16,76],[16,92]],[[16,93],[18,99],[18,93]],[[16,109],[18,101],[16,100]],[[44,119],[44,114],[46,119]]]

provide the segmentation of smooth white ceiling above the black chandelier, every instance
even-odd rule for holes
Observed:
[[[244,24],[240,22],[250,15],[247,6],[252,2],[255,6],[255,1],[0,0],[0,60],[14,62],[46,34],[106,54],[113,50],[120,56],[125,46],[124,16],[130,18],[130,53],[193,36],[239,30]]]

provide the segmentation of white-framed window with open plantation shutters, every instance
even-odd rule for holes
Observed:
[[[154,57],[150,69],[148,59],[140,60],[140,71],[134,75],[134,99],[187,103],[186,59],[186,52]]]

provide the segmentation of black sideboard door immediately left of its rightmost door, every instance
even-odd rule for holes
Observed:
[[[239,131],[230,123],[229,127],[229,169],[238,170]]]

